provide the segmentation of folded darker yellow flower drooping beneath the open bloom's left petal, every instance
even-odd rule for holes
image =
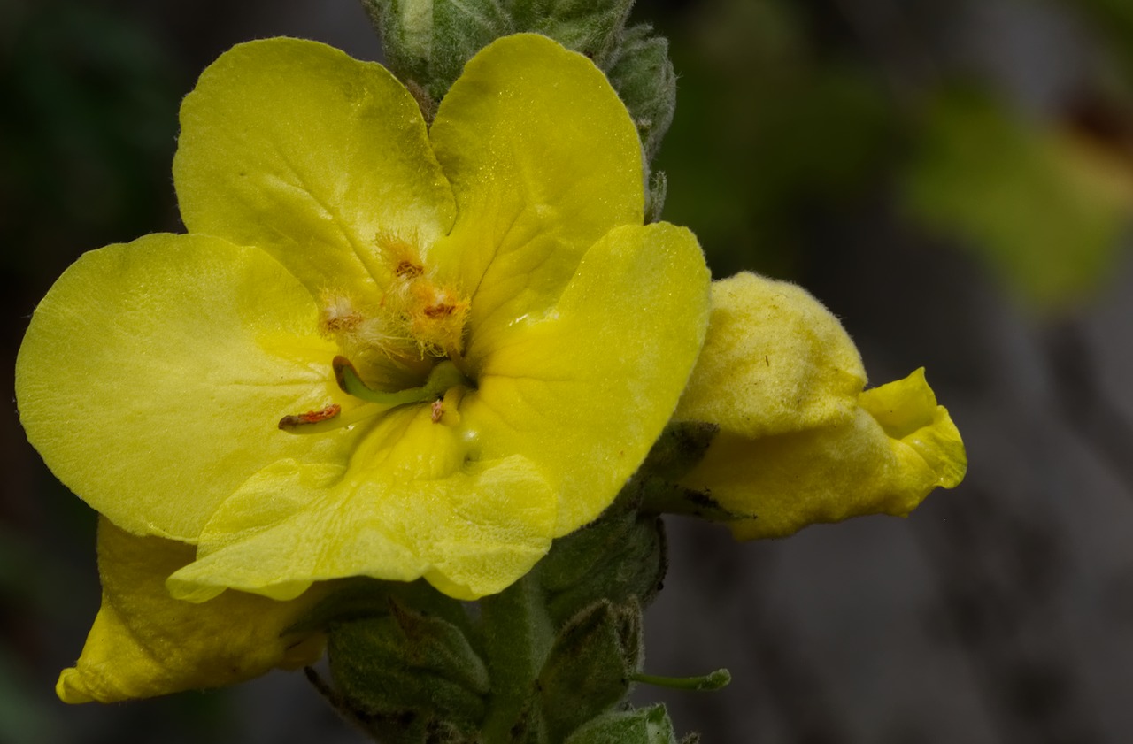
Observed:
[[[322,655],[317,635],[284,633],[321,589],[290,602],[235,591],[202,605],[172,599],[165,576],[193,554],[191,546],[101,521],[102,608],[78,662],[59,675],[60,700],[113,702],[233,684]]]

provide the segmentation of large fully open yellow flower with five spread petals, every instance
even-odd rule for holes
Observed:
[[[63,484],[137,555],[191,554],[157,565],[204,604],[170,613],[232,589],[288,614],[350,575],[499,592],[610,504],[704,339],[704,257],[641,224],[625,108],[542,36],[482,51],[431,127],[378,65],[236,46],[181,106],[173,180],[188,234],[79,258],[16,382]]]

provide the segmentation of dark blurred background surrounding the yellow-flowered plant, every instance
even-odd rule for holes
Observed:
[[[796,281],[875,384],[919,366],[971,469],[908,520],[671,520],[641,689],[705,744],[1133,741],[1133,2],[639,0],[667,34],[666,220]],[[0,0],[0,365],[82,251],[180,230],[177,109],[239,41],[381,49],[356,0]],[[66,707],[94,514],[0,418],[0,743],[360,743],[301,675]]]

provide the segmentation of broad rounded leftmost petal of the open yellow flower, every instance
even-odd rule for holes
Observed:
[[[56,476],[116,524],[194,542],[269,463],[346,461],[347,430],[278,429],[350,405],[316,318],[306,289],[255,248],[155,234],[93,250],[32,316],[20,420]]]

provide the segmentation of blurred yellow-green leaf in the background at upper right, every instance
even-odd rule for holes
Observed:
[[[1133,206],[1087,147],[989,96],[945,92],[927,112],[906,205],[1024,300],[1065,306],[1106,275]]]

